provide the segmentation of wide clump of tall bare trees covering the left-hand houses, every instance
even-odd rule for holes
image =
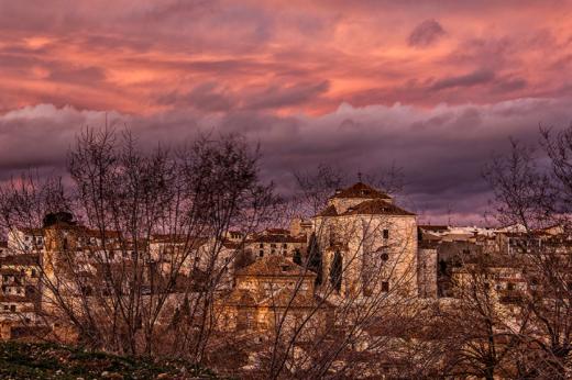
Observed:
[[[16,241],[43,231],[37,246],[18,246],[41,255],[46,323],[94,348],[201,361],[237,254],[227,232],[272,215],[257,161],[238,136],[143,152],[130,132],[88,128],[68,155],[69,186],[32,176],[4,186],[2,227]],[[175,311],[188,323],[173,323]]]

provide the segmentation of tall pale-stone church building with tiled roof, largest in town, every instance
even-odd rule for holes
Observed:
[[[341,297],[417,294],[416,215],[389,195],[358,182],[338,190],[312,220],[322,278],[330,280],[323,284]]]

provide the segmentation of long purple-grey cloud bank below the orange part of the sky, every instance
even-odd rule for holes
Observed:
[[[505,152],[508,137],[538,139],[538,124],[565,126],[572,99],[521,99],[491,105],[409,105],[353,108],[342,104],[322,116],[278,116],[237,110],[215,116],[179,109],[152,116],[110,113],[127,124],[144,147],[176,146],[199,132],[242,133],[261,143],[262,174],[283,193],[294,189],[292,174],[331,164],[350,177],[402,167],[400,201],[433,222],[454,214],[457,222],[481,222],[491,198],[481,177],[493,153]],[[63,168],[65,152],[84,125],[98,126],[106,114],[37,105],[0,116],[2,178],[30,166]],[[353,178],[353,177],[352,177]],[[447,216],[449,217],[449,216]]]

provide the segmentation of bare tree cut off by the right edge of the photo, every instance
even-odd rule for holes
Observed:
[[[513,142],[510,154],[495,159],[485,175],[495,191],[498,219],[526,227],[508,242],[526,281],[520,314],[527,325],[518,336],[534,365],[522,370],[546,378],[565,378],[571,370],[571,136],[570,127],[556,134],[541,130],[540,156]]]

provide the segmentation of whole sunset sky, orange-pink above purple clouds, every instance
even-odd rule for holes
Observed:
[[[292,192],[402,168],[425,223],[483,224],[483,166],[572,122],[572,1],[0,0],[0,181],[86,125],[239,132]]]

